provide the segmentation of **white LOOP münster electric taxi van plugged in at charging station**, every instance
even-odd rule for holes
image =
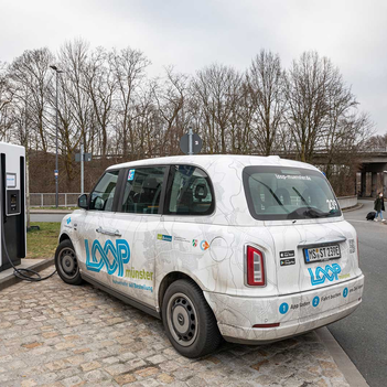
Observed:
[[[279,157],[186,155],[108,168],[64,217],[61,278],[161,318],[187,357],[222,336],[259,344],[362,302],[355,229],[316,168]]]

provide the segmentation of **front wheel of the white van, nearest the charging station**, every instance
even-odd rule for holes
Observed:
[[[55,267],[62,280],[69,284],[80,284],[78,260],[74,250],[74,246],[69,239],[61,241],[55,251]]]

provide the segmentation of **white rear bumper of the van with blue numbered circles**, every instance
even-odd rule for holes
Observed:
[[[362,302],[364,276],[335,286],[272,298],[205,292],[222,335],[230,342],[264,344],[302,334],[351,314]],[[255,324],[279,323],[257,329]]]

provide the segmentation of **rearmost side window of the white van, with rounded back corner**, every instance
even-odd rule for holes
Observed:
[[[192,165],[172,168],[172,184],[166,198],[166,214],[208,215],[215,206],[209,178]]]

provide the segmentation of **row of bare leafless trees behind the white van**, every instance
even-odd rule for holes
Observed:
[[[352,184],[345,174],[354,173],[362,147],[386,144],[384,138],[368,141],[369,117],[359,112],[337,67],[315,52],[302,54],[287,72],[277,54],[260,51],[245,73],[213,64],[187,76],[170,66],[153,79],[141,51],[90,50],[75,40],[61,47],[57,58],[40,49],[0,65],[0,139],[7,136],[39,157],[39,168],[31,163],[33,184],[37,171],[43,165],[51,171],[54,160],[54,63],[65,72],[58,129],[61,170],[67,175],[61,184],[67,182],[66,189],[74,186],[74,153],[80,142],[100,157],[97,175],[111,158],[179,153],[190,125],[203,139],[203,153],[279,152],[307,162],[319,162],[321,153],[331,182],[348,182],[341,184],[343,190]],[[87,176],[92,182],[92,174]]]

